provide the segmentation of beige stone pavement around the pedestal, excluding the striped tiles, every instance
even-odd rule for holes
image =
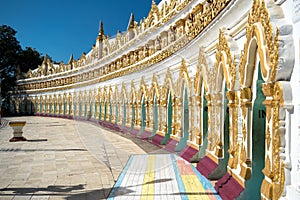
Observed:
[[[28,141],[8,142],[12,128],[0,128],[1,200],[106,199],[131,154],[165,153],[88,122],[50,117],[6,120],[25,120]]]

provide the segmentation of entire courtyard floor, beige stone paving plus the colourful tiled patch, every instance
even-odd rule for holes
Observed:
[[[107,199],[112,188],[111,199],[218,199],[189,163],[130,134],[61,118],[5,120],[0,200]],[[9,142],[7,120],[27,122],[27,141]]]

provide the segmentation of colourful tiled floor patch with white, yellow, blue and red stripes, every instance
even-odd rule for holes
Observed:
[[[108,199],[221,199],[211,183],[174,154],[132,155]]]

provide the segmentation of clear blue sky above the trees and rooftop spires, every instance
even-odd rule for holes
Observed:
[[[155,0],[158,4],[161,0]],[[133,12],[135,20],[147,17],[152,0],[0,0],[0,25],[17,31],[23,49],[33,47],[53,60],[80,58],[96,41],[99,21],[104,32],[125,31]]]

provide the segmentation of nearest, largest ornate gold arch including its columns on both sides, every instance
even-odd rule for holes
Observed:
[[[281,143],[284,138],[280,137],[279,130],[279,110],[282,108],[283,89],[277,82],[276,74],[279,58],[278,46],[279,30],[273,31],[270,22],[270,15],[264,0],[254,0],[252,10],[248,16],[246,27],[246,42],[240,62],[240,84],[241,84],[241,107],[243,137],[247,134],[247,108],[251,105],[251,86],[256,65],[257,55],[261,63],[261,74],[265,81],[262,85],[266,96],[264,105],[266,106],[266,152],[265,168],[263,173],[265,178],[261,186],[262,199],[279,199],[283,192],[285,173],[284,162],[280,158]],[[246,141],[243,138],[241,147],[241,163],[247,162],[245,152]],[[242,168],[241,176],[247,177],[247,171]]]

